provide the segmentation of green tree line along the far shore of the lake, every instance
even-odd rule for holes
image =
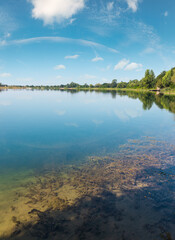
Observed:
[[[7,86],[0,83],[0,87]],[[11,86],[15,87],[15,86]],[[147,69],[145,71],[145,76],[141,80],[130,80],[129,82],[119,82],[117,79],[113,79],[111,83],[97,83],[93,84],[78,84],[71,82],[68,84],[60,84],[55,86],[18,86],[18,87],[27,87],[27,88],[36,88],[36,89],[106,89],[106,88],[129,88],[129,89],[156,89],[156,88],[175,88],[175,68],[172,68],[169,71],[163,71],[157,77],[154,74],[153,70]]]

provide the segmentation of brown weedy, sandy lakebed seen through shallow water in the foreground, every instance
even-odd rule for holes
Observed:
[[[174,174],[175,147],[151,138],[31,172],[0,195],[0,239],[173,240]]]

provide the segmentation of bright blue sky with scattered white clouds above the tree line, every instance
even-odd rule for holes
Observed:
[[[1,0],[0,82],[104,83],[175,67],[174,0]]]

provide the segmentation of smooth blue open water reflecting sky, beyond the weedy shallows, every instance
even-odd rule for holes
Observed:
[[[144,110],[139,99],[114,93],[1,92],[0,114],[0,165],[18,169],[70,163],[131,138],[168,140],[175,133],[173,113],[155,103]]]

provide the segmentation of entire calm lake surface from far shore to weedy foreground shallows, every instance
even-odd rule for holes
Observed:
[[[0,239],[175,239],[175,96],[0,92]]]

